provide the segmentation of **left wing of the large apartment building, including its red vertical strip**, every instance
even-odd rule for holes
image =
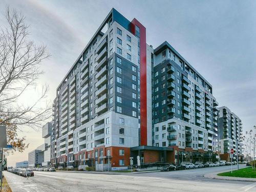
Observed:
[[[57,88],[52,164],[127,166],[130,147],[151,145],[145,40],[136,19],[106,16]]]

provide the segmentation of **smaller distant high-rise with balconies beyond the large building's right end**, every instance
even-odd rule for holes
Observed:
[[[242,132],[241,119],[226,106],[221,106],[219,108],[220,152],[225,160],[229,160],[231,148],[234,154],[238,153],[242,156]]]

